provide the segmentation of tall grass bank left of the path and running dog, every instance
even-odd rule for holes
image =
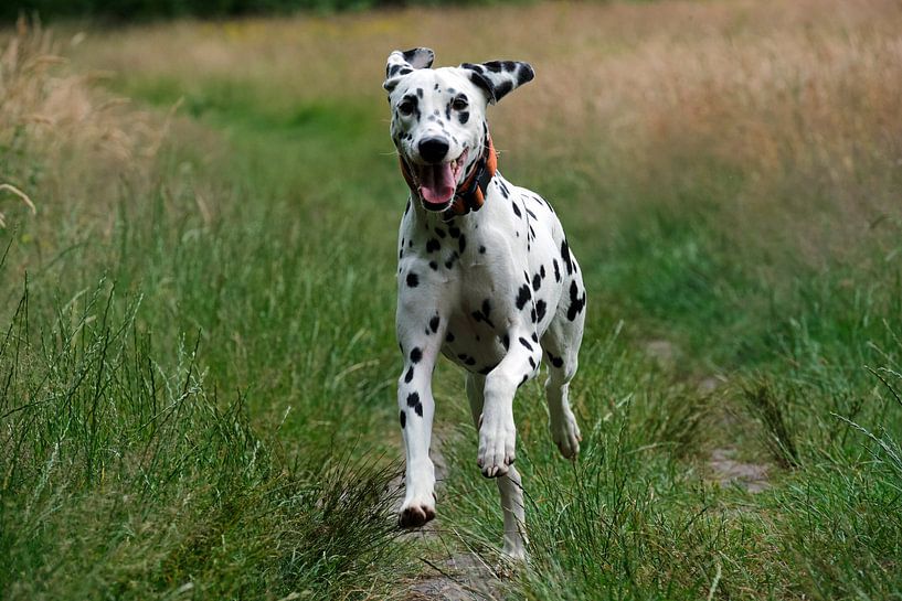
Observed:
[[[191,153],[144,151],[159,130],[140,114],[30,69],[47,39],[20,29],[2,89],[55,126],[2,112],[3,176],[40,210],[2,233],[2,595],[396,595],[399,466],[365,434],[393,411],[361,411],[390,344],[344,319],[367,277],[308,268],[335,255],[311,259],[272,205],[204,211]],[[52,111],[61,86],[86,101],[77,120]],[[124,171],[95,146],[115,131],[142,150]],[[234,184],[217,197],[240,208]]]

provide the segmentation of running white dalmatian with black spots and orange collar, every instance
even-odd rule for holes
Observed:
[[[576,455],[581,436],[567,388],[585,288],[551,205],[497,170],[486,108],[530,82],[532,67],[492,61],[433,69],[433,60],[429,49],[394,51],[383,84],[411,189],[399,234],[397,404],[406,452],[400,523],[418,527],[435,517],[432,375],[443,354],[467,373],[476,463],[501,493],[503,552],[523,559],[513,397],[544,358],[551,436],[565,458]]]

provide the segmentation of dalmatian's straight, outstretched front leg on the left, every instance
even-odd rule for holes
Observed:
[[[437,319],[429,318],[423,324],[415,318],[399,320],[404,369],[397,380],[397,406],[406,453],[406,494],[400,523],[405,528],[422,526],[435,517],[435,468],[429,459],[435,412],[432,372],[444,335],[444,328],[436,326]]]

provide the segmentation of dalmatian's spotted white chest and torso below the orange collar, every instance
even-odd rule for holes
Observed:
[[[401,227],[401,319],[441,315],[443,354],[477,373],[507,354],[514,320],[538,342],[561,296],[556,217],[544,201],[509,186],[498,180],[478,213],[452,223],[410,208]]]

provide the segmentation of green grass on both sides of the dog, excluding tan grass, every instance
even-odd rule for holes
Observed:
[[[405,598],[421,557],[494,565],[497,491],[448,366],[438,538],[396,540],[404,186],[384,105],[140,72],[112,85],[160,111],[183,97],[188,120],[106,221],[66,208],[34,150],[4,173],[46,195],[44,221],[0,232],[0,595]],[[751,184],[714,158],[692,176],[662,160],[673,185],[522,167],[542,159],[506,155],[506,173],[566,198],[590,290],[584,441],[558,457],[524,387],[531,559],[501,594],[902,598],[898,222],[817,266],[781,238],[768,262],[719,225]],[[602,223],[599,189],[640,210]],[[646,355],[658,339],[675,362]],[[711,375],[726,384],[700,388]],[[715,448],[766,464],[768,489],[711,482]]]

